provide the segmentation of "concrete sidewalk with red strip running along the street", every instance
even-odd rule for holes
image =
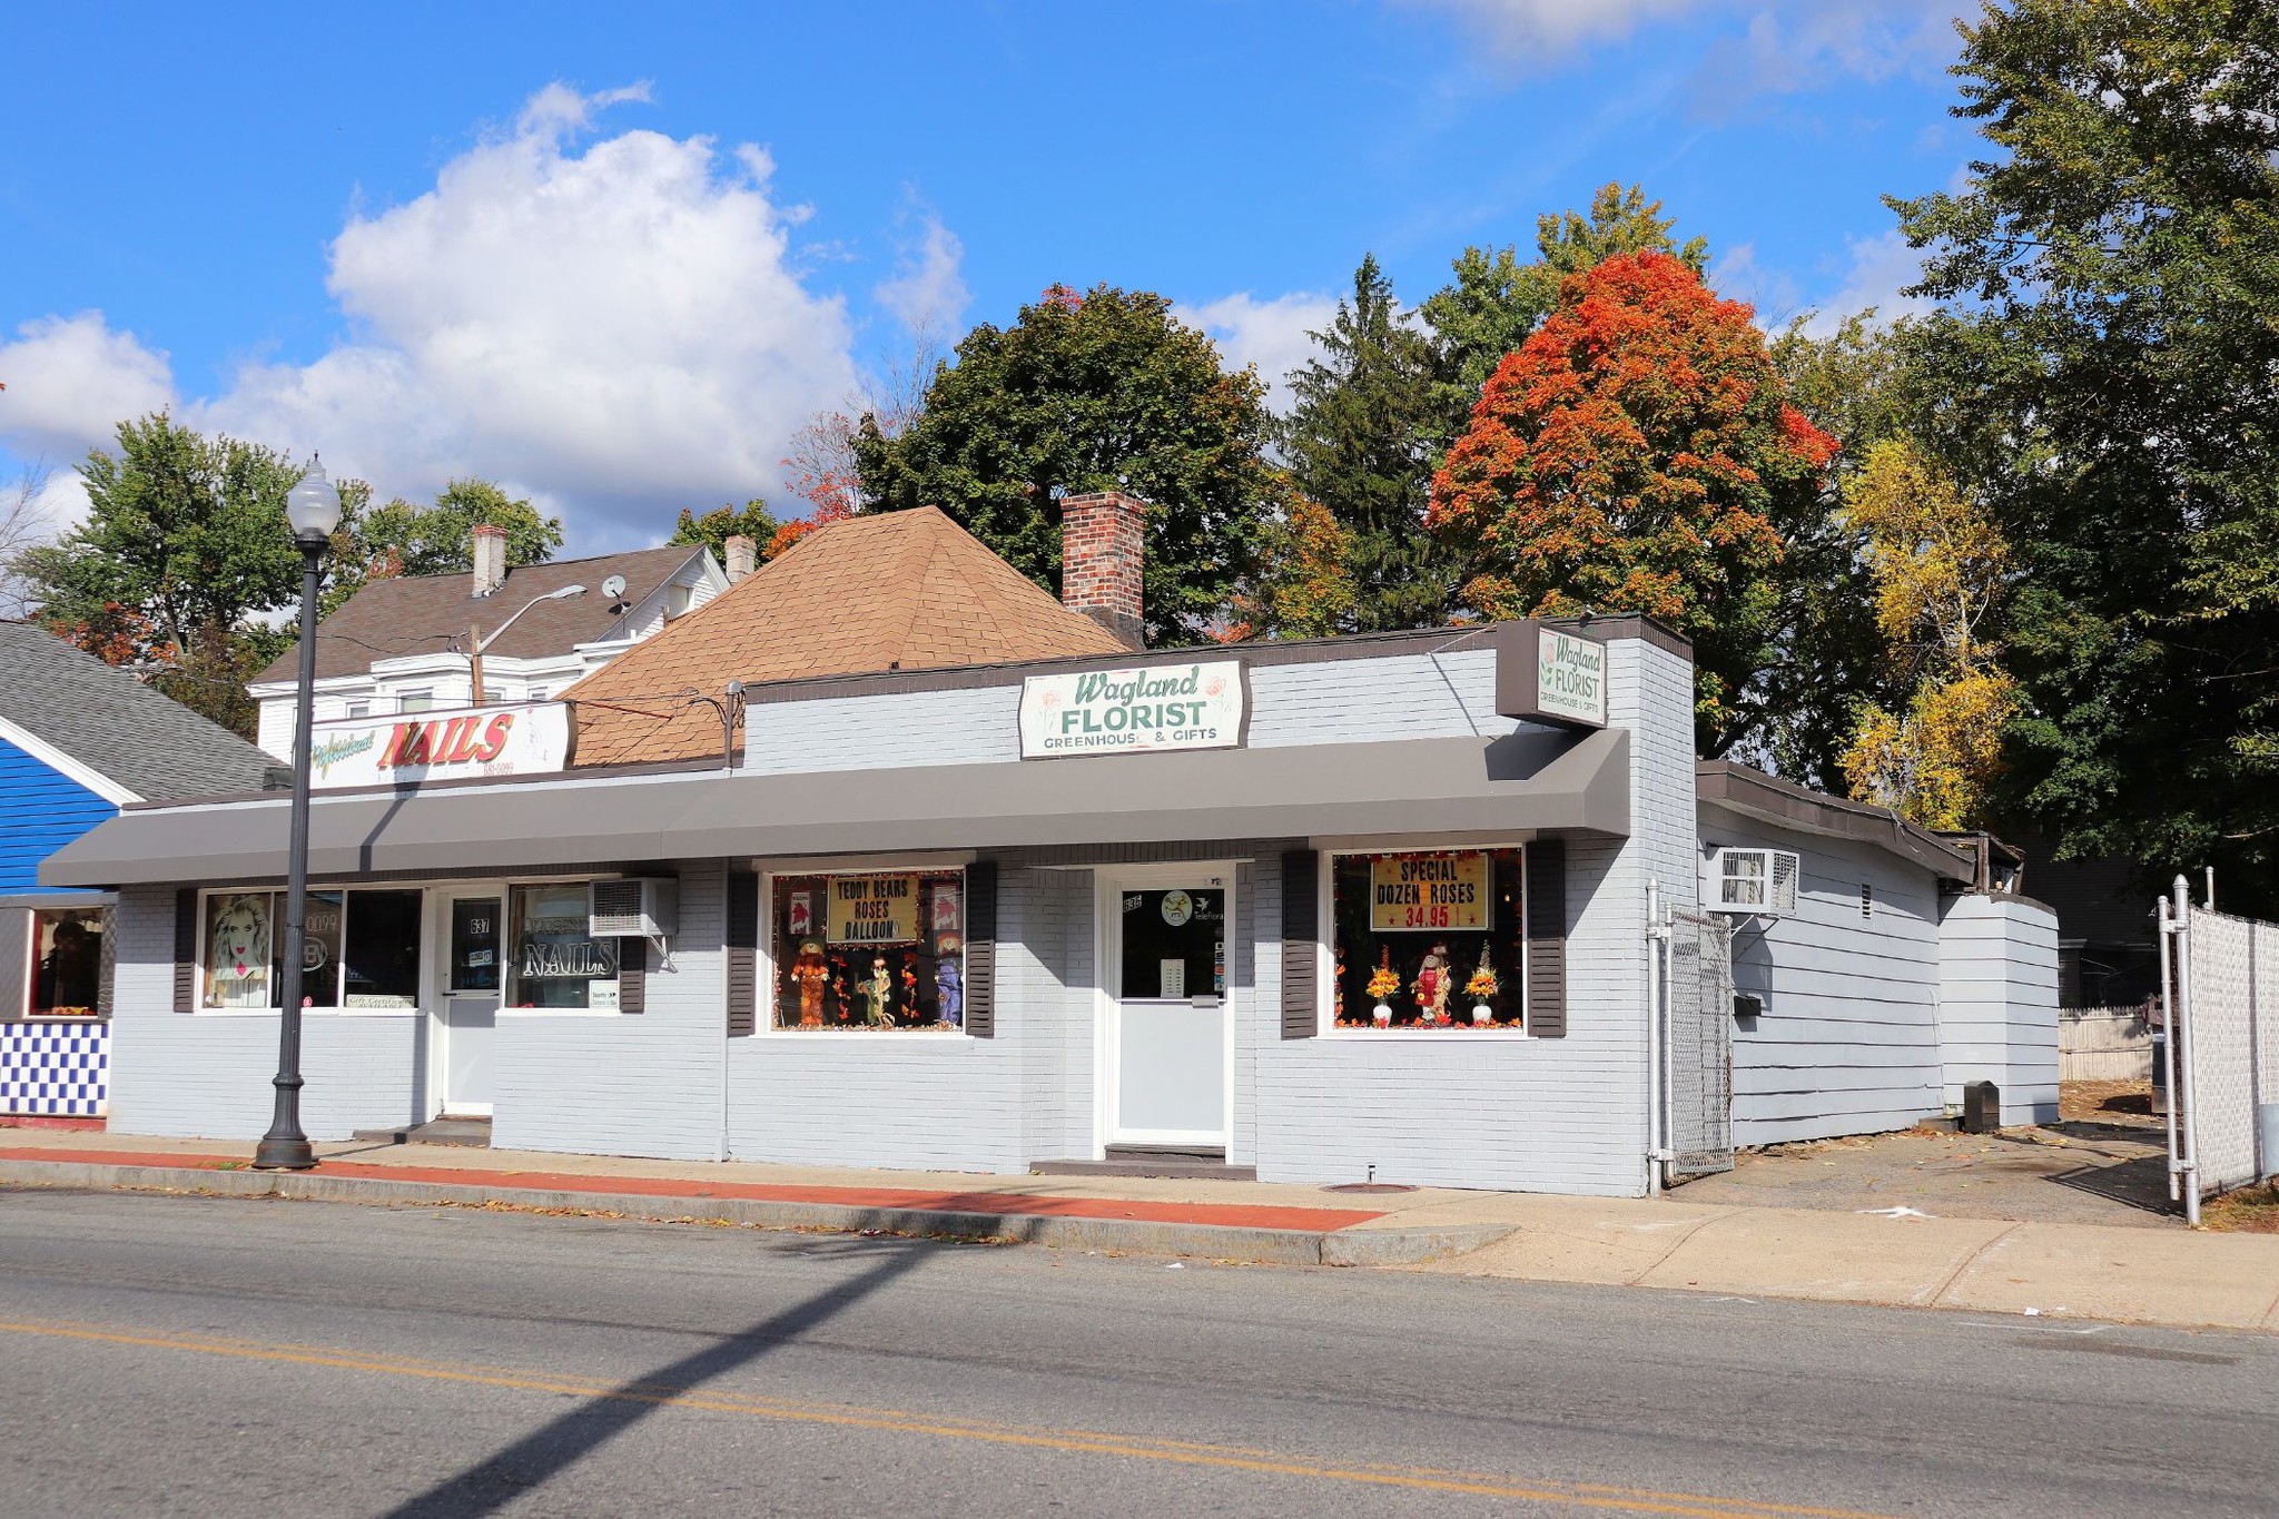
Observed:
[[[1420,1189],[647,1161],[440,1146],[251,1146],[0,1132],[0,1182],[353,1202],[458,1202],[766,1227],[1019,1239],[1226,1262],[1664,1287],[2279,1332],[2279,1237]]]

